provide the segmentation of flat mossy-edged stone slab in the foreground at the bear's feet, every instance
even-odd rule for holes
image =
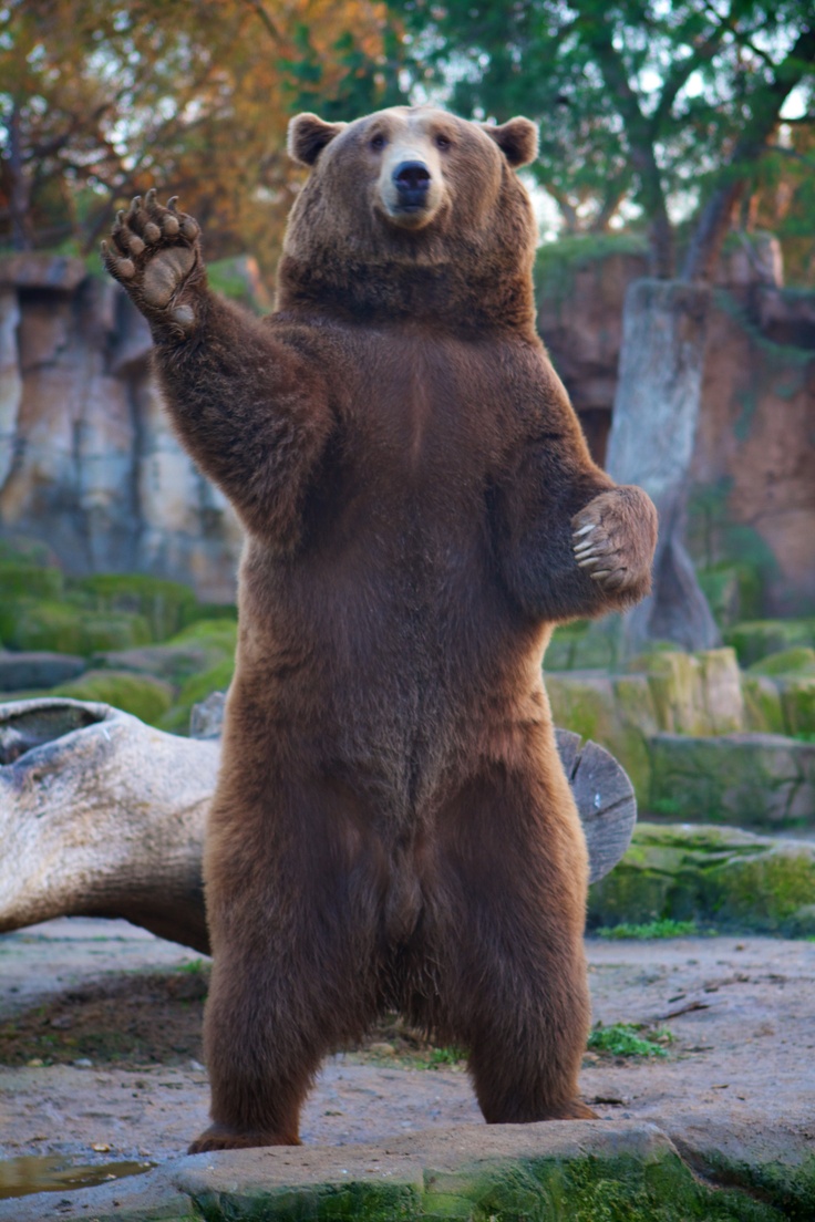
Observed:
[[[714,1191],[718,1198],[715,1216],[722,1222],[783,1217],[769,1206],[751,1207],[738,1190],[714,1190],[699,1183],[655,1125],[578,1121],[461,1127],[345,1149],[197,1155],[70,1196],[38,1194],[0,1202],[0,1220],[522,1222],[533,1216],[602,1216],[573,1210],[591,1204],[601,1207],[605,1198],[618,1207],[628,1205],[624,1217],[630,1222],[648,1222],[659,1205],[660,1217],[679,1222],[689,1216],[712,1218],[705,1202]]]

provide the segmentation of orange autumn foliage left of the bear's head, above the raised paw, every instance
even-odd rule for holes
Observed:
[[[0,6],[0,242],[87,252],[158,186],[210,255],[271,271],[297,188],[287,120],[387,99],[386,18],[365,0],[293,0],[285,20],[274,0]]]

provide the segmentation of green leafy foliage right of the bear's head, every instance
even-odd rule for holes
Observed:
[[[398,7],[425,79],[429,64],[455,110],[540,122],[536,176],[567,227],[602,230],[639,213],[659,276],[679,270],[681,219],[683,276],[710,275],[734,205],[761,182],[769,148],[778,148],[794,90],[804,114],[794,126],[815,123],[810,0],[407,0]],[[776,160],[775,175],[797,191],[800,175],[787,160],[786,170]]]

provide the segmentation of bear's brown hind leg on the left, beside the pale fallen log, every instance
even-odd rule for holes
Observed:
[[[210,815],[213,1124],[191,1154],[298,1145],[320,1062],[376,1012],[376,884],[347,802],[313,781],[270,793],[238,810],[237,827],[226,803]]]

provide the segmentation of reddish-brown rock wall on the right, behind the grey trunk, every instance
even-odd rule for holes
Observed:
[[[623,298],[646,259],[612,247],[572,255],[539,275],[539,330],[602,462]],[[692,554],[703,568],[753,571],[749,616],[815,610],[815,292],[777,276],[740,248],[722,263],[692,469]]]

